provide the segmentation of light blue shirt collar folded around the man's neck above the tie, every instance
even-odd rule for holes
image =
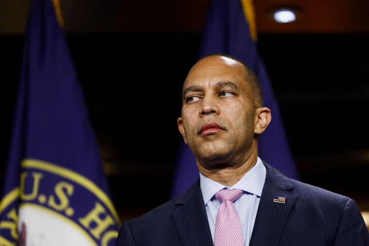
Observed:
[[[241,189],[258,197],[261,197],[267,170],[260,160],[257,158],[256,164],[237,182],[234,186],[228,187],[232,189]],[[202,198],[206,205],[214,195],[226,186],[206,178],[200,173],[200,187]]]

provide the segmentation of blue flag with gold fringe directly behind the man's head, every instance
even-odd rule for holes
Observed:
[[[264,90],[264,105],[272,120],[260,134],[258,156],[287,177],[299,180],[285,128],[274,97],[267,71],[259,57],[252,0],[211,0],[202,33],[199,58],[210,53],[225,53],[250,66],[258,75]],[[199,177],[196,160],[182,142],[174,174],[171,197],[175,197]]]

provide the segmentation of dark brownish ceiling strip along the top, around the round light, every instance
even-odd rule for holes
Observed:
[[[59,0],[67,33],[201,32],[210,0]],[[368,0],[254,0],[259,33],[368,33]],[[0,1],[0,34],[23,33],[30,0]],[[270,11],[292,7],[278,24]]]

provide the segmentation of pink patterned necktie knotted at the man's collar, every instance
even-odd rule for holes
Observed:
[[[241,222],[233,204],[242,193],[239,189],[228,189],[215,194],[221,205],[215,222],[214,246],[243,246]]]

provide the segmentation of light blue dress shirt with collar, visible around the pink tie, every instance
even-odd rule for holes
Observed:
[[[235,183],[234,186],[227,187],[244,191],[241,197],[234,202],[241,220],[244,246],[249,246],[250,244],[252,229],[255,223],[266,174],[267,170],[258,157],[256,164],[242,177],[242,179]],[[220,207],[220,202],[215,198],[215,194],[226,186],[214,180],[210,180],[202,174],[200,174],[200,186],[214,243],[215,221]]]

